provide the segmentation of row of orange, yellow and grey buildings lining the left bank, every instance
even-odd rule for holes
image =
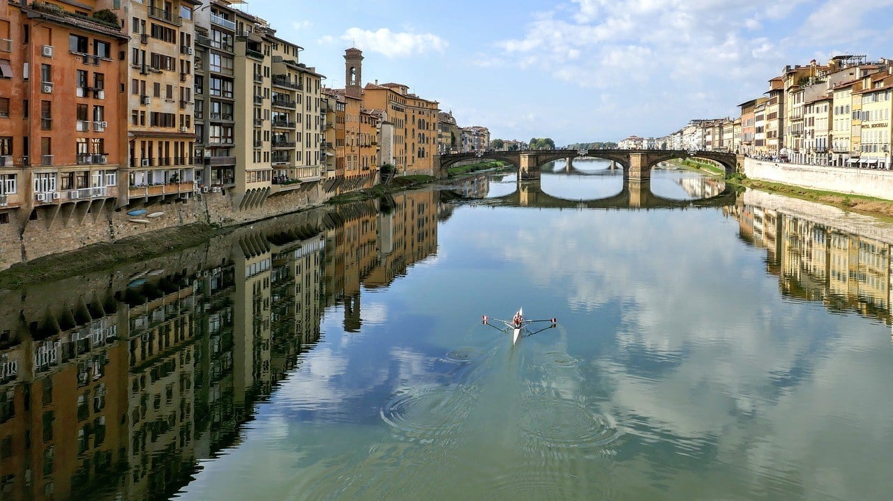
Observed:
[[[52,220],[41,212],[205,194],[257,209],[312,184],[374,184],[384,164],[430,174],[434,155],[462,147],[437,101],[363,86],[358,49],[345,53],[345,88],[327,88],[301,46],[238,4],[0,3],[0,224],[25,234]]]

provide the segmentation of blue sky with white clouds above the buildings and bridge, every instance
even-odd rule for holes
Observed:
[[[563,145],[732,116],[786,64],[893,58],[893,0],[249,0],[344,86],[399,82],[492,137]]]

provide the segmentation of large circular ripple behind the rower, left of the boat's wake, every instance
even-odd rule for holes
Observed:
[[[400,431],[438,436],[455,431],[468,417],[473,397],[462,386],[426,386],[395,395],[381,419]]]

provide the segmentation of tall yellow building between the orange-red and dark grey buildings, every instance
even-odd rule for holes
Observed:
[[[188,198],[195,190],[194,12],[201,2],[109,3],[129,36],[125,70],[130,205]],[[121,190],[123,194],[123,189]]]

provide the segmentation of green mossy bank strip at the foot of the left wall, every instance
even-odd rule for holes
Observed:
[[[88,245],[79,250],[51,254],[0,272],[0,289],[15,289],[25,283],[52,282],[73,275],[107,269],[124,263],[155,258],[207,242],[220,228],[196,223],[122,238],[115,242]]]

